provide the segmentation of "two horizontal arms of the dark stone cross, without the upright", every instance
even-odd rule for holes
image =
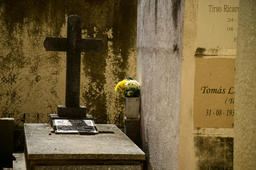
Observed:
[[[77,42],[78,51],[85,53],[101,53],[103,49],[103,42],[101,39],[84,39],[81,38]],[[70,47],[67,38],[61,37],[45,37],[44,48],[45,51],[65,51]]]

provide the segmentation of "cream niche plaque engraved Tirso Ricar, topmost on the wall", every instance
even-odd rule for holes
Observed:
[[[238,0],[198,0],[197,47],[236,48]]]

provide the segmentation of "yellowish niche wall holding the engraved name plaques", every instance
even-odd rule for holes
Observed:
[[[238,0],[185,1],[179,169],[233,169]]]

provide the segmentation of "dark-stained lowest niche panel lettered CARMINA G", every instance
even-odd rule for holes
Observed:
[[[233,167],[233,137],[204,137],[195,136],[195,156],[197,158],[196,169],[211,170],[224,169],[229,170]],[[218,168],[217,168],[218,167]]]

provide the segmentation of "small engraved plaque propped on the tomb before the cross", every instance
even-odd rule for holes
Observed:
[[[92,120],[53,120],[55,134],[98,134]]]

